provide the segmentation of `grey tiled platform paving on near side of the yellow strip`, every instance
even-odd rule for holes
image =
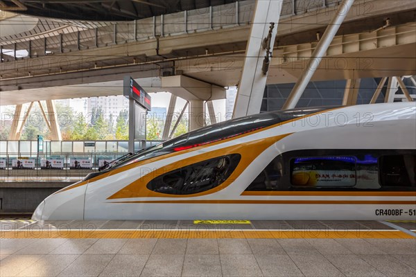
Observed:
[[[415,241],[2,239],[0,276],[416,276]]]

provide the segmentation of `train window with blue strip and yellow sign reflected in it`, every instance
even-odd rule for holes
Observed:
[[[356,157],[298,157],[293,161],[291,184],[304,187],[356,185]]]

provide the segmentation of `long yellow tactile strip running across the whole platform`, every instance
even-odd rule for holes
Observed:
[[[401,238],[415,239],[404,232],[372,230],[10,230],[0,238]]]

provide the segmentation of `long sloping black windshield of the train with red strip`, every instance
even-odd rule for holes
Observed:
[[[207,145],[216,141],[247,134],[257,129],[269,127],[279,123],[285,123],[288,120],[318,113],[335,107],[311,107],[302,109],[287,109],[284,111],[270,111],[263,114],[253,114],[241,118],[234,118],[222,123],[216,123],[200,129],[196,129],[187,134],[182,134],[174,139],[160,143],[159,145],[146,148],[135,154],[130,155],[118,163],[112,164],[109,168],[119,168],[129,163],[143,161],[153,157],[161,156],[171,152],[187,150],[200,145]]]

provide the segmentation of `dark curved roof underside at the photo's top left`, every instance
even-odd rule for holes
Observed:
[[[130,21],[233,3],[236,0],[3,0],[2,10],[58,19]]]

